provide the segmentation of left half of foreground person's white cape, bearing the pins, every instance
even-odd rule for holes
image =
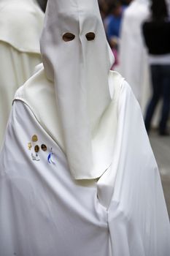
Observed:
[[[28,150],[34,133],[48,148],[39,162]],[[47,162],[50,148],[55,165]],[[14,103],[0,165],[0,255],[110,255],[96,183],[72,179],[65,155],[22,102]]]

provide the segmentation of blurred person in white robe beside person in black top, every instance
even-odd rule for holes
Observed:
[[[143,113],[150,94],[150,72],[141,28],[150,14],[149,4],[149,0],[134,0],[125,10],[120,30],[120,65],[117,67],[128,80]]]

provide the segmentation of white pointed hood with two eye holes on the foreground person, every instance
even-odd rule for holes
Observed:
[[[95,39],[88,41],[90,32]],[[72,33],[74,39],[65,42],[66,33]],[[111,164],[108,147],[104,138],[98,138],[98,130],[104,129],[105,114],[112,101],[108,75],[113,61],[98,1],[49,0],[40,48],[47,78],[55,83],[62,130],[58,141],[72,176],[97,178]],[[101,157],[101,151],[107,157],[103,154],[100,162],[96,156]]]

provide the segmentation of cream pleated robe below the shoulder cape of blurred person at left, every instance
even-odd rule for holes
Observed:
[[[39,53],[25,53],[0,41],[0,148],[7,126],[12,100],[19,86],[30,78],[40,63]]]

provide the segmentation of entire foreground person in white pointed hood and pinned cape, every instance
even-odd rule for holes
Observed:
[[[158,167],[134,94],[109,71],[97,0],[49,0],[41,52],[1,151],[0,255],[169,255]]]

